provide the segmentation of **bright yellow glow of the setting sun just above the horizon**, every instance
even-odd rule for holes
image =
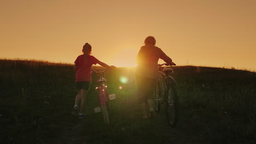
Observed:
[[[135,49],[123,49],[117,52],[114,60],[114,65],[116,67],[136,67],[136,56],[138,50]]]

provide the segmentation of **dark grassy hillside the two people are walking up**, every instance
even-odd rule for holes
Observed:
[[[0,60],[1,143],[256,142],[256,73],[193,66],[173,69],[181,103],[175,128],[167,126],[164,109],[157,119],[141,118],[134,68],[106,71],[108,91],[117,97],[110,103],[106,126],[102,114],[94,113],[98,75],[92,74],[86,118],[78,119],[71,114],[77,94],[72,65]]]

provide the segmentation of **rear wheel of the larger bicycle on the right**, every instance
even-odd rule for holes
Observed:
[[[178,95],[176,87],[168,86],[165,92],[166,102],[166,118],[171,127],[174,127],[178,122]]]

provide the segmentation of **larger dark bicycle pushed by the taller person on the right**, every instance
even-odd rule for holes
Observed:
[[[160,112],[161,104],[165,104],[165,112],[168,125],[174,127],[178,122],[178,95],[176,91],[177,82],[171,77],[173,69],[167,63],[158,64],[159,80],[155,87],[155,111]],[[175,65],[175,64],[174,64]],[[171,65],[170,65],[171,66]]]

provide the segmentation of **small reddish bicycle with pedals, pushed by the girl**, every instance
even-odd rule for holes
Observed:
[[[104,122],[106,124],[109,124],[109,115],[108,115],[108,111],[109,111],[109,100],[113,100],[115,99],[115,94],[108,94],[108,90],[107,90],[107,85],[106,82],[107,80],[104,79],[104,77],[102,76],[102,73],[104,73],[106,69],[102,70],[102,71],[95,71],[95,70],[91,70],[94,71],[95,73],[100,73],[100,79],[97,80],[97,84],[98,87],[95,88],[95,91],[97,92],[97,100],[98,100],[98,105],[99,107],[96,107],[94,109],[94,112],[102,112],[103,113],[103,118],[104,118]]]

